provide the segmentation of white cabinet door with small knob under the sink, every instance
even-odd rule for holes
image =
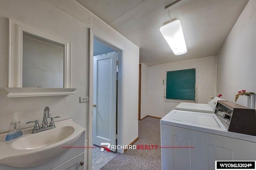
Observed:
[[[60,164],[59,166],[53,168],[52,170],[83,170],[84,164],[80,164],[80,162],[84,162],[84,153]]]

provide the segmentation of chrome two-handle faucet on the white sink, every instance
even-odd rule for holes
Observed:
[[[57,117],[59,117],[59,116],[57,116]],[[43,122],[42,122],[42,128],[39,127],[38,120],[30,121],[30,122],[27,122],[26,124],[35,123],[34,128],[32,130],[32,133],[42,132],[44,130],[49,130],[49,129],[55,128],[55,124],[54,124],[53,119],[57,118],[57,117],[51,117],[50,108],[48,106],[46,106],[44,108],[44,117],[43,117]],[[47,118],[51,118],[49,126],[48,126]]]

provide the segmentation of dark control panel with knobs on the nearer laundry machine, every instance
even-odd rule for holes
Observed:
[[[256,136],[256,113],[254,109],[230,101],[218,101],[215,114],[228,131]]]

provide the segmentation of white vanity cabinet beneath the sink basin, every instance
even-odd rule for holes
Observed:
[[[87,166],[87,163],[84,162],[84,133],[80,136],[74,146],[77,147],[69,148],[63,154],[54,158],[51,162],[41,166],[31,168],[16,168],[7,165],[0,165],[0,170],[84,170],[84,166]],[[40,154],[38,154],[37,157],[40,159]],[[80,165],[81,161],[84,162],[84,164],[81,163],[82,166]]]

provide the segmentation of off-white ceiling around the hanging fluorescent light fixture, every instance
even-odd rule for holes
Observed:
[[[140,47],[140,63],[157,65],[217,55],[248,0],[76,0]],[[188,52],[174,55],[159,28],[178,19]]]

